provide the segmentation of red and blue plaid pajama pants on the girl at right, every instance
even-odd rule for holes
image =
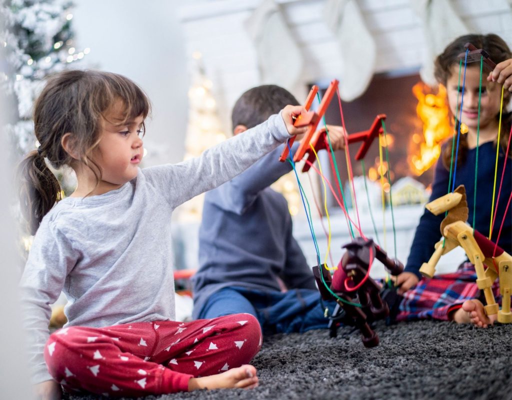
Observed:
[[[422,278],[416,287],[403,294],[396,320],[450,320],[451,312],[465,300],[480,297],[476,279],[475,267],[470,262],[462,263],[454,273]],[[498,297],[498,281],[493,284],[493,292]]]

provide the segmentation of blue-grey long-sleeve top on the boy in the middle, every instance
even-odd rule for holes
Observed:
[[[298,143],[292,146],[292,153]],[[315,289],[311,268],[292,236],[283,195],[269,186],[291,171],[283,146],[229,182],[206,193],[199,229],[199,270],[193,277],[197,318],[211,294],[224,287]]]

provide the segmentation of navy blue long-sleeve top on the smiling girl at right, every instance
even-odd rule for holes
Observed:
[[[475,208],[475,164],[477,161],[477,149],[467,151],[467,157],[464,163],[457,164],[455,173],[455,186],[464,185],[466,189],[467,205],[469,208],[469,217],[467,223],[473,226],[473,210]],[[503,172],[503,163],[506,159],[505,175],[503,178],[503,187],[499,199],[499,204],[495,206],[496,222],[494,224],[492,240],[496,243],[501,221],[505,215],[503,229],[500,235],[499,246],[508,254],[512,254],[512,209],[506,205],[512,190],[512,160],[505,157],[504,151],[500,149],[498,159],[498,176],[496,179],[496,194],[500,185],[501,174]],[[496,164],[496,145],[493,142],[486,142],[478,149],[478,176],[477,176],[477,197],[475,228],[482,235],[489,235],[490,214],[493,202],[494,174]],[[432,195],[430,201],[437,199],[448,193],[450,172],[446,170],[441,159],[437,161],[432,184]],[[453,182],[452,182],[453,183]],[[451,188],[450,188],[451,191]],[[496,201],[496,200],[495,200]],[[421,278],[419,268],[424,262],[428,262],[434,252],[434,245],[441,238],[441,221],[444,213],[435,216],[429,210],[425,209],[420,218],[416,234],[414,236],[411,252],[407,260],[405,271],[414,272],[418,278]],[[462,261],[462,260],[461,260]]]

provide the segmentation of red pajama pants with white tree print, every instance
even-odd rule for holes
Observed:
[[[191,377],[246,364],[261,344],[258,320],[233,314],[185,323],[63,328],[50,336],[45,360],[68,391],[139,397],[187,391]]]

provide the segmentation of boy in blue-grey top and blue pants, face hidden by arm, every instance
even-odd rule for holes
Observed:
[[[286,104],[298,102],[279,86],[248,90],[234,105],[233,134],[260,124]],[[333,150],[343,149],[343,129],[327,128]],[[298,145],[295,141],[292,154]],[[206,193],[193,318],[247,312],[258,318],[264,334],[327,328],[311,268],[292,236],[288,203],[269,187],[292,169],[289,162],[279,162],[282,151],[283,145]],[[332,311],[334,303],[328,306]]]

